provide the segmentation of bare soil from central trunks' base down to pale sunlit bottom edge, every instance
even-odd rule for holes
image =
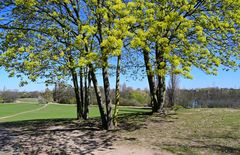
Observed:
[[[0,155],[159,154],[159,150],[151,148],[118,145],[118,141],[125,139],[118,136],[117,132],[102,130],[98,121],[85,123],[75,120],[36,120],[2,123],[0,124]],[[126,130],[129,129],[134,130],[132,128]]]

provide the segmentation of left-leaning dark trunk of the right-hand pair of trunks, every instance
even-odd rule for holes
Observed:
[[[154,113],[159,110],[160,104],[158,103],[158,100],[157,100],[154,73],[152,71],[149,53],[147,51],[143,51],[143,55],[144,55],[144,62],[145,62],[145,67],[147,72],[149,89],[150,89],[152,112]]]

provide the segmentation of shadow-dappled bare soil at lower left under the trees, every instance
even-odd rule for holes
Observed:
[[[111,149],[118,139],[99,128],[71,121],[0,124],[0,135],[0,154],[93,154],[97,149]]]

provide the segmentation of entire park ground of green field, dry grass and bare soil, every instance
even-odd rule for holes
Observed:
[[[121,107],[118,128],[100,128],[97,107],[0,104],[0,154],[240,154],[239,109],[179,109],[149,116]]]

